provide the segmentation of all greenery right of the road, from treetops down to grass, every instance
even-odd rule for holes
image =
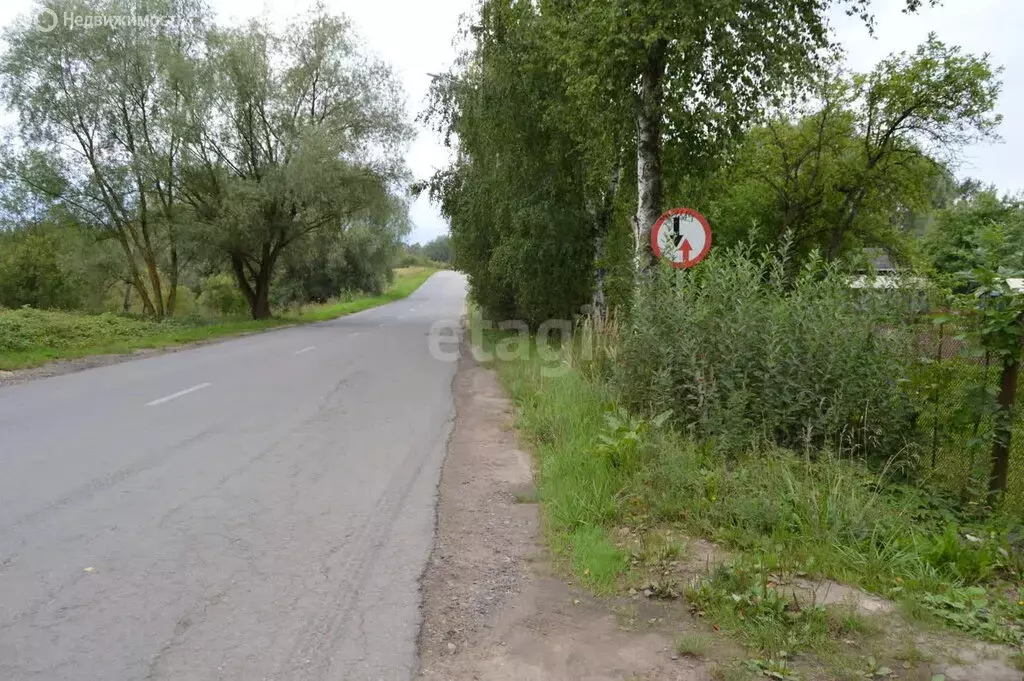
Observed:
[[[487,0],[428,116],[457,150],[430,188],[480,314],[583,320],[560,359],[540,339],[498,365],[554,548],[611,592],[637,569],[624,537],[724,545],[688,589],[644,592],[685,590],[772,678],[870,629],[784,591],[804,577],[1024,630],[1024,212],[954,176],[996,136],[1000,69],[931,35],[850,73],[836,7],[872,26],[867,0]],[[676,205],[715,235],[686,271],[648,246]]]

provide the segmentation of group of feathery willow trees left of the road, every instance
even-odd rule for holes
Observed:
[[[268,318],[381,294],[410,230],[411,127],[387,65],[323,6],[283,27],[224,26],[190,0],[138,10],[164,20],[4,32],[0,305],[163,318],[206,296],[234,313],[229,281]]]

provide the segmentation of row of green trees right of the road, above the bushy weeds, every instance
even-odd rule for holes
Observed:
[[[535,326],[624,312],[680,204],[717,244],[791,233],[798,267],[865,247],[930,265],[921,233],[955,198],[958,150],[995,135],[999,69],[930,36],[850,74],[824,17],[870,24],[869,4],[484,2],[428,116],[458,142],[430,188],[479,304]]]

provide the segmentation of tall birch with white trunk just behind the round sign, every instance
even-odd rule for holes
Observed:
[[[932,4],[935,0],[930,0]],[[907,0],[915,10],[923,0]],[[722,143],[781,93],[799,86],[830,47],[826,14],[845,7],[868,26],[870,0],[552,0],[562,54],[588,108],[635,123],[634,233],[638,259],[663,206],[667,144],[688,164]]]

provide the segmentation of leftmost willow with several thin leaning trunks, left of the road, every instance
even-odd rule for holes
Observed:
[[[163,316],[174,310],[180,266],[181,122],[208,17],[194,0],[154,0],[146,9],[167,20],[12,25],[0,85],[28,152],[7,172],[113,237],[144,311]],[[117,0],[48,0],[33,17],[44,10],[127,13]]]

